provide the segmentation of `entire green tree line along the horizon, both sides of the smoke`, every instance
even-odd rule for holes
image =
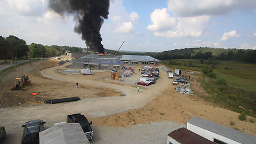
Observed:
[[[90,48],[81,48],[74,46],[42,45],[32,43],[26,44],[26,41],[16,36],[0,36],[0,59],[15,58],[48,58],[57,57],[70,53],[83,53],[83,50],[90,51]],[[105,49],[105,53],[116,54],[117,51]],[[175,49],[163,52],[127,52],[119,51],[117,55],[150,55],[158,60],[175,60],[175,59],[202,59],[202,60],[239,60],[249,63],[256,63],[256,50],[243,49],[220,49],[211,47],[195,47],[185,49]]]

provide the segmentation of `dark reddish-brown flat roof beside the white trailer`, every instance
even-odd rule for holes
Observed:
[[[178,130],[174,130],[171,133],[168,134],[169,137],[173,138],[174,140],[182,143],[182,144],[205,144],[205,143],[209,143],[209,144],[214,144],[214,142],[205,139],[204,137],[189,131],[188,129],[182,127]]]

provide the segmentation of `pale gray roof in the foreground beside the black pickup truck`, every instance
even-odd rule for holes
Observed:
[[[40,144],[90,144],[79,123],[58,124],[39,133]]]

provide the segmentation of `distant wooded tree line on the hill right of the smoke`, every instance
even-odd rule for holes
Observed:
[[[114,50],[105,50],[105,52],[115,54]],[[128,55],[150,55],[158,60],[175,59],[203,59],[203,60],[239,60],[256,64],[256,50],[243,49],[220,49],[211,47],[195,47],[185,49],[175,49],[163,52],[126,52],[120,51],[118,54]]]

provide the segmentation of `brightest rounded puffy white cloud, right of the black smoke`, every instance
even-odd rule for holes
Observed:
[[[177,19],[170,16],[166,9],[156,9],[150,14],[153,25],[147,27],[150,31],[165,31],[177,24]]]

